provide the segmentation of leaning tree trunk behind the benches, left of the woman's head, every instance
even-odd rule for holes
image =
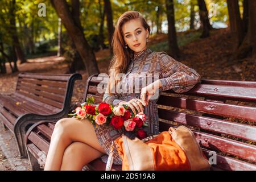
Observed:
[[[73,18],[67,2],[65,0],[51,0],[51,3],[54,5],[53,7],[55,7],[55,10],[67,29],[69,36],[71,36],[77,51],[79,51],[88,75],[99,73],[94,52],[85,39],[84,32],[81,31],[81,27]]]

